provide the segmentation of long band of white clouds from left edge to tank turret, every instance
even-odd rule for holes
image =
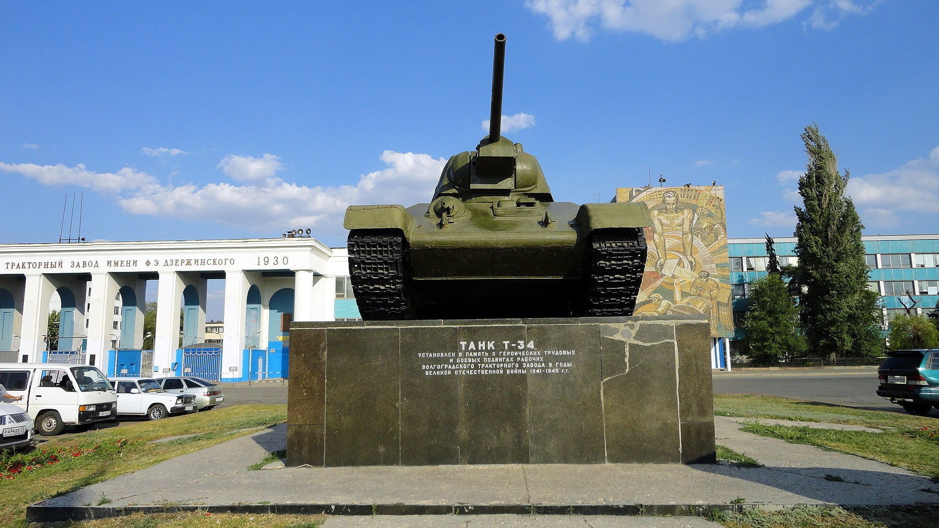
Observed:
[[[273,176],[279,158],[227,156],[219,163],[225,174],[244,183],[222,181],[206,185],[162,184],[145,173],[125,167],[115,173],[95,173],[84,164],[40,166],[35,163],[0,163],[0,170],[17,172],[45,185],[78,185],[115,197],[131,214],[187,218],[223,225],[304,225],[330,221],[341,225],[352,204],[402,204],[429,201],[446,160],[428,154],[386,150],[386,167],[363,174],[354,185],[333,187],[298,185]],[[253,219],[260,219],[254,221]],[[262,226],[263,225],[263,226]],[[279,228],[279,227],[276,227]]]

